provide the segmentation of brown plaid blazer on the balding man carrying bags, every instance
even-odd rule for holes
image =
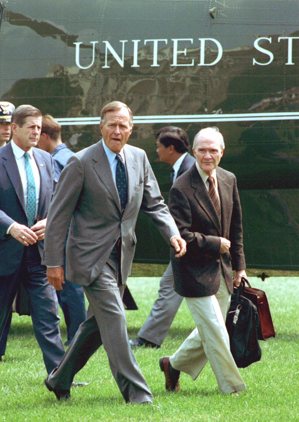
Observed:
[[[223,269],[229,292],[233,292],[232,270],[245,269],[242,214],[236,177],[217,167],[221,223],[196,165],[176,179],[169,193],[169,209],[187,252],[175,258],[171,247],[174,289],[185,297],[210,296],[220,286]],[[231,241],[229,252],[220,254],[220,237]]]

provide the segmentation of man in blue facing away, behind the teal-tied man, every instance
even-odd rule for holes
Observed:
[[[38,148],[49,152],[53,157],[55,176],[59,180],[60,174],[65,168],[68,159],[73,155],[73,151],[67,148],[61,140],[61,126],[50,114],[46,114],[41,122],[41,136],[38,141]],[[63,270],[65,273],[65,250],[63,252]],[[79,325],[86,319],[85,298],[82,286],[65,279],[62,290],[56,290],[58,303],[63,310],[65,325],[67,330],[68,346]]]

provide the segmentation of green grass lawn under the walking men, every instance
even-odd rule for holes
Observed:
[[[160,278],[130,278],[128,286],[139,306],[126,311],[129,337],[135,337],[157,297]],[[261,341],[261,361],[241,369],[247,390],[223,395],[209,364],[194,382],[182,373],[181,391],[166,392],[159,358],[172,354],[194,328],[183,301],[160,349],[134,350],[154,395],[154,406],[127,405],[111,376],[106,352],[100,348],[75,381],[71,400],[58,402],[46,390],[46,371],[30,317],[13,314],[4,361],[0,362],[0,421],[299,421],[299,278],[250,277],[267,293],[276,337]],[[63,341],[65,324],[61,321]]]

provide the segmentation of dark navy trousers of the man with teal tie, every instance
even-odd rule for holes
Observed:
[[[28,295],[33,330],[49,373],[63,357],[64,347],[60,338],[55,289],[46,278],[46,267],[41,265],[36,244],[24,248],[22,261],[14,274],[0,276],[0,337],[21,282]]]

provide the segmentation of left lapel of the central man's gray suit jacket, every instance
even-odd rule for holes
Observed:
[[[94,161],[93,168],[95,169],[95,172],[106,186],[107,190],[110,192],[111,197],[113,198],[121,213],[122,209],[120,206],[120,197],[117,192],[117,187],[114,183],[109,161],[103,148],[102,141],[98,142],[97,148],[95,149],[95,154],[92,159]]]

